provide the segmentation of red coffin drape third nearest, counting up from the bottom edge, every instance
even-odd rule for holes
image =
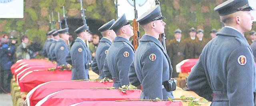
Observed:
[[[64,89],[94,89],[90,87],[112,87],[112,82],[88,82],[88,81],[50,81],[42,83],[32,89],[26,96],[28,106],[35,106],[36,103],[48,94]]]

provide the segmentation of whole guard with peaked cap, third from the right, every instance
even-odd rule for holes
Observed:
[[[118,88],[129,85],[128,71],[134,59],[134,48],[129,41],[133,36],[133,27],[123,14],[113,23],[110,30],[114,30],[117,37],[107,51],[103,70],[106,77],[112,76],[113,87]]]

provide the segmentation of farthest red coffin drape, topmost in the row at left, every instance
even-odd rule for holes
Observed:
[[[26,63],[26,62],[47,62],[48,60],[46,59],[22,59],[22,60],[18,60],[16,63],[14,63],[12,66],[11,66],[11,71],[12,71],[12,74],[14,73],[14,71],[16,69],[18,69],[18,67],[20,67],[22,64],[21,63]]]

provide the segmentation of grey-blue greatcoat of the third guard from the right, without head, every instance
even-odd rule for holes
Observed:
[[[129,85],[128,71],[133,59],[134,48],[132,43],[123,37],[116,37],[108,49],[103,68],[106,77],[112,75],[114,80],[113,87],[118,88],[122,85]],[[119,81],[116,79],[119,79]]]

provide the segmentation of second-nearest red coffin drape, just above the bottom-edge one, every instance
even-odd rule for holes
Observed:
[[[36,106],[69,106],[83,101],[114,101],[125,99],[139,99],[140,90],[127,90],[126,93],[118,89],[65,89],[49,94],[40,100]]]

